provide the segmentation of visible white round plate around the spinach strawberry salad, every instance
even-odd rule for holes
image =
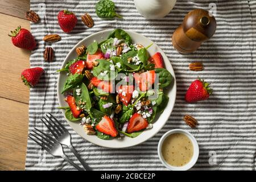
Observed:
[[[143,46],[148,46],[152,43],[152,41],[145,36],[138,34],[133,31],[127,31],[125,30],[133,39],[133,43],[139,43]],[[76,44],[75,47],[72,48],[72,50],[68,53],[67,57],[65,58],[61,68],[64,68],[65,65],[69,60],[76,59],[77,53],[76,48],[80,47],[81,45],[88,46],[90,43],[92,43],[94,40],[96,40],[98,43],[100,43],[102,40],[105,40],[108,35],[112,32],[112,30],[105,30],[97,32],[93,35],[90,35],[86,37],[85,39],[81,40],[78,44]],[[172,82],[172,88],[168,90],[168,96],[169,96],[169,102],[166,106],[166,109],[164,109],[163,113],[160,114],[160,116],[157,118],[157,120],[153,123],[153,128],[150,130],[145,130],[141,135],[135,138],[129,138],[129,137],[123,137],[123,139],[112,139],[112,140],[103,140],[100,138],[97,138],[96,135],[87,135],[85,131],[82,129],[82,126],[79,125],[80,122],[71,122],[68,121],[69,125],[73,128],[73,130],[76,131],[82,138],[88,140],[89,142],[92,142],[94,144],[97,144],[98,146],[102,147],[108,147],[108,148],[125,148],[125,147],[131,147],[135,146],[139,143],[142,143],[146,141],[147,139],[153,137],[162,127],[165,125],[166,121],[168,120],[168,117],[170,116],[172,109],[174,107],[175,98],[176,98],[176,79],[174,74],[174,69],[172,69],[172,65],[170,61],[168,60],[167,56],[164,54],[162,49],[160,49],[155,43],[148,48],[148,52],[150,55],[153,55],[155,52],[160,52],[164,59],[164,64],[166,66],[166,69],[172,74],[174,77],[174,81]],[[59,104],[61,107],[68,106],[68,104],[64,101],[64,96],[61,94],[61,89],[63,88],[64,82],[67,79],[67,73],[60,72],[59,78],[57,82],[57,96],[59,98]],[[62,113],[65,117],[65,111],[62,110]]]

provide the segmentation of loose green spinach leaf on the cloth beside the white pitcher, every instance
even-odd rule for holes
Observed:
[[[122,18],[122,16],[115,13],[115,4],[113,1],[101,0],[96,3],[95,9],[97,16],[100,18],[114,18],[114,16]]]

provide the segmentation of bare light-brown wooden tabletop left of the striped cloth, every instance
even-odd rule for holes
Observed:
[[[30,67],[31,52],[13,46],[7,34],[19,25],[30,30],[29,9],[29,0],[0,1],[0,170],[25,167],[29,89],[20,73]]]

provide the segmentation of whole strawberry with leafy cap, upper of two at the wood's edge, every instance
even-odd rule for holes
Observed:
[[[30,31],[28,31],[25,28],[22,28],[18,26],[16,30],[11,31],[11,34],[8,34],[11,36],[11,41],[13,42],[14,46],[32,50],[36,47],[36,42]]]

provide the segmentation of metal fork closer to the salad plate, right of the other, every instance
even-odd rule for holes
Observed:
[[[65,129],[65,127],[57,121],[55,117],[51,113],[48,113],[49,115],[46,114],[46,117],[43,117],[44,119],[41,119],[44,125],[51,131],[52,135],[56,138],[56,140],[65,146],[68,146],[68,148],[75,154],[76,158],[80,161],[82,166],[87,170],[90,171],[92,170],[85,162],[82,160],[80,155],[77,153],[75,148],[72,146],[71,143],[71,134],[69,134],[68,130]],[[53,118],[53,120],[52,120]]]

